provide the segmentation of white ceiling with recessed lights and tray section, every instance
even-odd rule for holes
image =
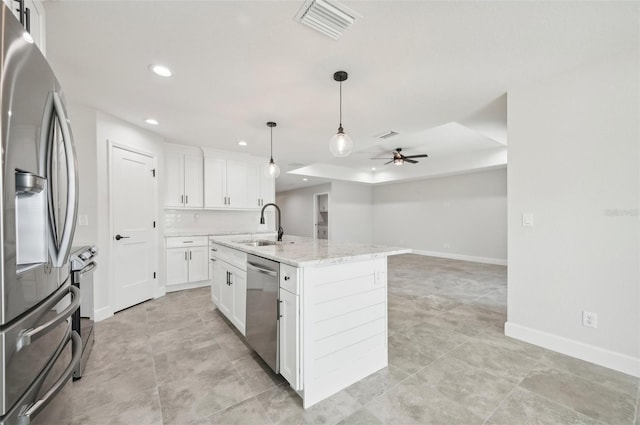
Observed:
[[[45,1],[47,56],[70,102],[173,143],[268,157],[276,121],[277,189],[288,190],[504,166],[510,89],[637,49],[637,2],[342,3],[361,17],[336,41],[294,20],[303,0]],[[349,73],[347,158],[328,149],[338,70]],[[369,159],[397,147],[429,158]]]

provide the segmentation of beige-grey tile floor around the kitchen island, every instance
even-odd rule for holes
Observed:
[[[73,425],[639,425],[639,380],[503,336],[506,268],[389,259],[389,366],[318,405],[172,293],[96,325]]]

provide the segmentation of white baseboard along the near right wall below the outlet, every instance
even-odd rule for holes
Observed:
[[[605,350],[594,345],[507,322],[505,335],[567,356],[595,363],[618,372],[640,377],[640,358]]]

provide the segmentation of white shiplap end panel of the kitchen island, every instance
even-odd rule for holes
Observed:
[[[387,366],[387,259],[304,267],[301,291],[308,408]]]

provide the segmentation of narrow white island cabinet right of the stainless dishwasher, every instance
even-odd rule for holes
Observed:
[[[280,263],[280,374],[296,391],[302,389],[299,277],[298,268]]]

